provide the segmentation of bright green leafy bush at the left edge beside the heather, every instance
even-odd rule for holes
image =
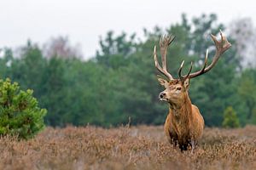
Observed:
[[[44,128],[45,109],[38,107],[32,90],[20,90],[17,82],[0,80],[0,135],[30,139]]]

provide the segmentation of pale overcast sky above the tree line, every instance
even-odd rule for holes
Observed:
[[[50,37],[68,36],[89,58],[109,30],[142,35],[144,27],[170,26],[182,13],[189,19],[215,13],[226,25],[241,17],[256,23],[252,0],[0,0],[0,48],[17,48],[28,38],[42,45]]]

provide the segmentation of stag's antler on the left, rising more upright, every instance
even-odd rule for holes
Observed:
[[[161,54],[161,60],[162,60],[162,67],[160,67],[157,55],[156,55],[156,46],[154,46],[154,64],[157,70],[159,70],[161,73],[163,73],[166,77],[168,77],[170,80],[173,80],[172,75],[167,71],[166,67],[166,53],[167,48],[174,40],[174,36],[164,36],[160,37],[160,54]]]

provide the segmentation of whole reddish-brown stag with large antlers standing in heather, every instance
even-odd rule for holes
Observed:
[[[163,75],[165,75],[168,80],[158,76],[158,81],[160,85],[164,86],[166,89],[159,94],[161,101],[166,101],[169,104],[169,114],[166,117],[165,122],[165,132],[167,139],[171,144],[179,145],[180,150],[187,150],[188,146],[191,146],[193,150],[198,140],[201,138],[204,119],[201,116],[200,111],[196,105],[192,105],[189,99],[189,80],[194,77],[198,77],[207,71],[210,71],[214,65],[216,65],[221,54],[231,47],[230,42],[224,37],[220,31],[221,40],[217,40],[217,37],[211,34],[212,40],[215,43],[216,52],[213,56],[211,65],[207,66],[208,50],[205,56],[204,65],[200,71],[190,73],[192,70],[193,63],[191,62],[189,72],[186,76],[182,75],[183,63],[178,69],[178,79],[172,77],[172,75],[167,71],[166,67],[166,52],[168,46],[174,40],[173,36],[164,36],[160,38],[160,54],[162,67],[159,65],[156,47],[154,46],[154,63],[155,67]]]

